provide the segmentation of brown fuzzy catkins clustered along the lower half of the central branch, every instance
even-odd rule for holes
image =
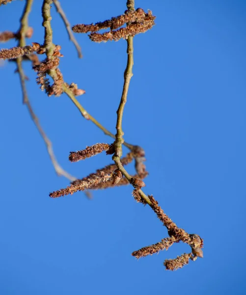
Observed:
[[[103,151],[106,151],[106,154],[113,154],[114,145],[96,144],[79,151],[72,151],[70,152],[68,158],[71,162],[78,162]],[[139,194],[139,189],[145,186],[142,179],[148,176],[148,172],[146,171],[146,167],[143,163],[145,161],[144,157],[144,150],[135,146],[125,157],[121,158],[121,163],[125,166],[135,160],[136,175],[131,178],[131,183],[134,186],[133,196],[137,202],[145,205],[145,201]],[[57,198],[69,194],[72,195],[77,191],[105,189],[126,184],[129,184],[129,181],[117,169],[115,164],[110,164],[104,168],[98,169],[95,173],[91,173],[87,177],[73,181],[71,185],[66,188],[52,192],[50,197]],[[177,225],[164,213],[163,209],[158,205],[158,202],[154,199],[154,197],[148,197],[151,201],[150,207],[167,228],[169,237],[162,239],[161,242],[134,251],[132,255],[139,259],[147,255],[158,253],[164,249],[167,250],[173,243],[183,241],[191,246],[192,253],[184,253],[176,259],[165,260],[164,266],[166,269],[175,270],[188,264],[190,259],[196,260],[197,257],[203,257],[201,249],[203,247],[203,239],[198,235],[190,235],[183,229],[178,228]]]

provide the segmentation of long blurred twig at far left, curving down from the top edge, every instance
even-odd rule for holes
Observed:
[[[23,15],[21,17],[21,28],[20,28],[19,34],[18,34],[19,35],[19,46],[25,46],[25,43],[26,43],[25,42],[25,35],[26,35],[26,31],[28,29],[28,24],[27,24],[28,15],[29,15],[30,10],[31,10],[32,2],[33,2],[33,0],[27,0],[26,6],[24,8]],[[17,63],[18,73],[19,73],[19,76],[20,76],[20,81],[21,81],[21,86],[22,86],[23,103],[26,104],[27,110],[28,110],[34,124],[36,125],[40,135],[42,136],[42,138],[43,138],[43,140],[45,142],[45,145],[47,147],[47,150],[48,150],[49,156],[51,158],[52,164],[53,164],[53,166],[55,168],[56,174],[58,176],[64,176],[64,177],[68,178],[71,181],[76,180],[77,179],[76,177],[71,176],[69,173],[67,173],[65,170],[63,170],[61,168],[61,166],[58,164],[58,162],[57,162],[57,160],[55,158],[53,148],[52,148],[52,143],[49,140],[49,138],[46,136],[43,128],[41,127],[41,125],[40,125],[40,123],[38,121],[37,116],[33,112],[31,104],[29,102],[29,99],[28,99],[28,96],[27,96],[26,83],[25,83],[25,73],[24,73],[23,68],[22,68],[22,57],[17,58],[16,63]]]

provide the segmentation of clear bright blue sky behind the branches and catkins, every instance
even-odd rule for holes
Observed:
[[[125,0],[61,2],[72,25],[103,21],[126,9]],[[0,31],[19,28],[23,6],[24,1],[13,1],[0,7]],[[204,238],[204,258],[168,272],[164,260],[188,252],[189,246],[175,244],[139,261],[132,257],[167,232],[149,207],[134,201],[130,186],[96,191],[92,201],[82,192],[50,199],[51,191],[69,182],[56,177],[22,105],[16,66],[4,62],[1,295],[246,292],[246,1],[136,0],[136,7],[151,9],[157,19],[152,30],[134,38],[125,140],[146,151],[150,175],[144,191],[178,226]],[[126,41],[95,44],[77,34],[83,52],[78,59],[55,8],[52,17],[65,81],[86,90],[79,97],[82,105],[115,132]],[[43,42],[41,23],[41,1],[34,1],[29,42]],[[69,151],[112,140],[82,118],[66,95],[47,97],[35,84],[30,64],[24,68],[29,99],[60,164],[84,177],[111,162],[101,154],[69,163]]]

